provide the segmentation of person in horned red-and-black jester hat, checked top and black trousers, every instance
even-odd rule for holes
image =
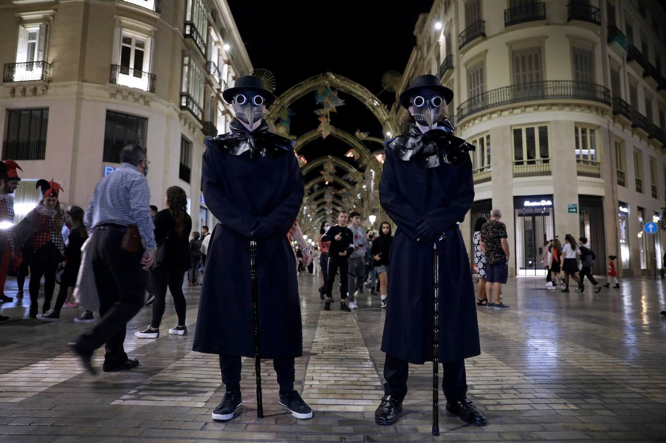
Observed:
[[[49,197],[57,198],[60,192],[64,191],[63,187],[53,182],[53,180],[37,180],[37,188],[41,188],[44,200]],[[63,251],[65,250],[65,241],[62,235],[64,220],[65,212],[60,207],[60,202],[58,202],[55,209],[49,210],[45,208],[42,200],[15,229],[16,244],[23,244],[19,240],[19,237],[23,237],[23,241],[27,245],[23,248],[23,251],[29,253],[29,257],[23,257],[23,259],[29,260],[29,315],[33,319],[37,318],[37,297],[39,295],[39,281],[42,276],[44,277],[42,312],[46,313],[51,308],[51,298],[55,288],[55,272],[58,263],[63,259]]]

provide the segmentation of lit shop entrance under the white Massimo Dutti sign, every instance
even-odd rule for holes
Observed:
[[[553,238],[553,208],[515,210],[515,268],[517,275],[545,275],[543,243]],[[510,241],[510,239],[509,239]]]

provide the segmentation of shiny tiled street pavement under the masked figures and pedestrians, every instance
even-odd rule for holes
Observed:
[[[73,323],[79,310],[63,309],[59,323],[23,319],[26,294],[1,306],[11,319],[0,325],[0,441],[666,441],[663,280],[565,294],[546,291],[541,279],[511,279],[503,291],[510,310],[478,308],[483,353],[467,361],[468,396],[490,424],[468,426],[440,402],[439,437],[430,434],[431,365],[410,365],[400,420],[374,424],[384,365],[379,296],[366,289],[358,310],[322,311],[319,278],[299,281],[304,357],[296,359],[296,388],[315,411],[311,420],[278,408],[270,361],[262,365],[264,418],[256,418],[254,365],[245,361],[241,413],[211,420],[224,386],[216,356],[192,352],[198,289],[186,290],[190,335],[166,333],[176,324],[169,300],[163,335],[136,339],[151,316],[143,309],[126,341],[141,366],[99,376],[67,349],[88,327]],[[7,295],[15,296],[15,284],[8,281]],[[94,362],[102,361],[98,351]]]

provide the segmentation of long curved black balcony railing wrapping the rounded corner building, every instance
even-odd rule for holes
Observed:
[[[611,105],[611,93],[601,84],[575,80],[545,80],[512,84],[482,92],[458,106],[458,121],[470,114],[505,104],[532,100],[591,100]]]

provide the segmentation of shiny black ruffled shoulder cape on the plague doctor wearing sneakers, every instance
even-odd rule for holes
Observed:
[[[231,129],[230,132],[207,138],[206,146],[208,148],[218,148],[232,156],[239,156],[246,151],[250,151],[252,158],[264,156],[277,157],[286,152],[293,151],[294,142],[288,138],[269,132],[266,120],[262,120],[259,127],[252,132],[248,131],[238,121],[238,118],[231,120],[229,127]]]

